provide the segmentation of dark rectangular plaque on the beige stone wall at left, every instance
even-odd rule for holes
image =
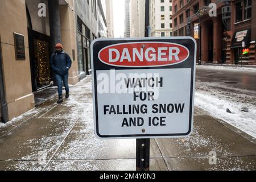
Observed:
[[[24,35],[14,32],[14,44],[16,60],[26,60]]]

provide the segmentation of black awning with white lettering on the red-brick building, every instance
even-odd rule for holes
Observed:
[[[242,48],[243,42],[245,47],[250,46],[251,28],[234,32],[231,48]]]

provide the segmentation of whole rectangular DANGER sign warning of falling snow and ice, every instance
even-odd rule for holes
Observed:
[[[99,138],[175,138],[192,133],[196,42],[191,37],[92,42]]]

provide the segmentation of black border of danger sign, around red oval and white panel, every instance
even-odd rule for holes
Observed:
[[[169,41],[168,41],[169,40]],[[171,41],[170,41],[171,40]],[[195,49],[195,52],[189,50],[189,57],[193,56],[194,63],[191,64],[193,65],[191,68],[191,91],[190,91],[190,105],[189,105],[189,130],[187,133],[182,133],[182,134],[135,134],[135,135],[101,135],[99,133],[99,127],[98,127],[98,98],[97,98],[97,71],[99,70],[110,70],[110,69],[116,69],[116,70],[122,70],[122,69],[166,69],[166,68],[178,68],[180,64],[176,65],[170,65],[170,66],[159,66],[159,67],[143,67],[143,68],[137,68],[137,67],[115,67],[114,65],[108,65],[104,63],[100,63],[101,61],[99,60],[98,63],[104,64],[104,69],[97,69],[94,64],[94,60],[98,60],[98,52],[97,54],[94,54],[94,46],[98,42],[106,42],[108,46],[114,45],[114,44],[119,44],[119,43],[129,43],[129,42],[167,42],[167,43],[176,43],[176,44],[181,44],[182,46],[185,46],[183,43],[177,43],[175,40],[189,40],[193,43],[192,47]],[[110,43],[110,42],[115,42],[115,43]],[[191,44],[189,44],[191,46]],[[107,46],[102,46],[99,50],[101,50],[103,47]],[[187,47],[187,46],[185,46]],[[187,47],[188,48],[188,47]],[[189,49],[189,48],[188,48]],[[195,92],[195,75],[196,75],[196,53],[197,53],[197,44],[196,40],[193,39],[192,37],[189,36],[184,36],[184,37],[169,37],[169,38],[117,38],[117,39],[95,39],[91,43],[91,61],[92,61],[92,82],[93,82],[93,116],[94,116],[94,133],[96,136],[100,139],[113,139],[113,138],[178,138],[178,137],[187,137],[192,134],[192,118],[193,118],[193,96]],[[96,59],[95,59],[96,58]],[[189,59],[189,58],[188,58]],[[184,61],[186,62],[186,61]],[[108,69],[106,69],[108,68]]]

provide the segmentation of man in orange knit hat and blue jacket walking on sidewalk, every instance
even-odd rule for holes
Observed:
[[[51,55],[50,65],[54,72],[55,81],[57,82],[58,87],[59,100],[57,101],[57,104],[61,104],[63,102],[63,84],[66,91],[65,97],[69,98],[68,71],[71,68],[72,61],[69,55],[63,51],[63,46],[60,43],[57,43],[55,46],[55,53]]]

